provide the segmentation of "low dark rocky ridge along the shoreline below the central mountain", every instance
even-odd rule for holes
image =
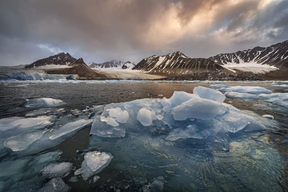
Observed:
[[[224,70],[219,71],[205,71],[200,73],[192,73],[186,75],[180,75],[175,77],[166,77],[157,80],[231,80],[231,81],[243,81],[243,80],[264,80],[260,76],[255,75],[252,72],[241,72],[241,73],[229,73]]]

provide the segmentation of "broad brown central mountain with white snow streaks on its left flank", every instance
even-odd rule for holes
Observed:
[[[176,51],[167,55],[145,58],[140,61],[133,70],[140,70],[159,74],[189,74],[203,71],[218,71],[222,66],[205,58],[190,58]]]

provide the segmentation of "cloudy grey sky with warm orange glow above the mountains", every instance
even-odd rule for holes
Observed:
[[[1,0],[0,65],[208,58],[288,40],[288,0]]]

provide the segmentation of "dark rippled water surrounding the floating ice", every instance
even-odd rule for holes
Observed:
[[[0,83],[0,118],[24,116],[29,109],[19,107],[19,104],[31,98],[61,99],[66,102],[61,107],[83,110],[86,106],[162,98],[157,96],[159,94],[170,98],[174,91],[193,93],[194,87],[209,85],[211,84]],[[226,85],[257,85],[273,92],[287,92],[283,88],[275,89],[267,82]],[[129,177],[145,177],[150,181],[158,176],[165,179],[163,191],[288,191],[287,108],[259,100],[226,98],[225,103],[229,101],[232,101],[229,104],[254,116],[271,114],[275,119],[268,121],[262,118],[266,131],[231,134],[228,152],[210,150],[207,146],[195,145],[193,141],[165,143],[158,137],[150,137],[147,132],[126,132],[122,138],[103,138],[89,135],[89,127],[45,151],[63,151],[61,161],[72,162],[77,169],[81,167],[83,156],[77,154],[76,150],[93,146],[113,154],[114,158],[109,166],[97,174],[101,178],[95,184],[88,184],[82,178],[78,182],[68,182],[71,173],[63,178],[72,187],[71,191],[99,191],[103,189],[100,186],[109,186]],[[77,156],[80,159],[75,159]]]

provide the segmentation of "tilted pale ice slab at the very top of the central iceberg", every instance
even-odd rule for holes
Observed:
[[[220,91],[202,86],[194,87],[193,94],[199,95],[203,99],[209,99],[221,103],[223,103],[226,98]]]

